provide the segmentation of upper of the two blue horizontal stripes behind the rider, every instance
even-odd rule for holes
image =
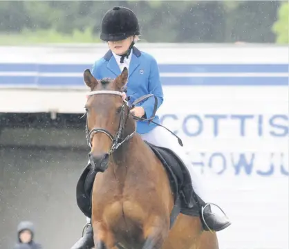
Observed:
[[[82,73],[92,64],[0,64],[0,72]],[[288,64],[159,64],[160,73],[288,73]]]

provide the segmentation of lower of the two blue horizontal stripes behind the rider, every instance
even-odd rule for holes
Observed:
[[[288,86],[288,77],[162,77],[163,85]],[[82,77],[0,76],[0,85],[84,86]]]

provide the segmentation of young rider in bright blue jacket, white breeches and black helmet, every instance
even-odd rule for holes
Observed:
[[[92,74],[97,79],[104,77],[115,78],[122,72],[124,67],[129,69],[129,83],[127,84],[127,94],[132,95],[131,100],[136,100],[142,95],[153,93],[158,98],[158,107],[162,104],[162,85],[158,72],[156,59],[151,55],[141,52],[134,47],[140,35],[138,19],[132,10],[124,7],[115,7],[106,12],[102,19],[102,32],[100,38],[107,42],[109,51],[97,60],[93,65]],[[150,118],[153,113],[154,99],[149,98],[142,104],[132,109],[134,116],[139,118]],[[154,119],[160,122],[158,116]],[[174,151],[184,161],[192,177],[192,185],[196,194],[195,198],[204,202],[204,194],[201,190],[201,183],[198,182],[196,173],[192,169],[192,164],[187,158],[185,151],[178,145],[174,136],[156,124],[138,121],[137,132],[143,140],[147,140],[153,145],[167,147]],[[200,203],[200,202],[199,202]],[[205,205],[205,204],[204,204]],[[227,228],[231,223],[225,217],[212,213],[211,209],[205,209],[203,213],[203,223],[205,230],[220,231]],[[86,223],[84,236],[75,243],[73,249],[93,247],[93,230],[90,219]]]

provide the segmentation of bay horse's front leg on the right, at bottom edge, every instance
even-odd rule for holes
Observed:
[[[144,225],[145,244],[142,249],[160,249],[169,233],[168,223],[162,216],[151,216]]]

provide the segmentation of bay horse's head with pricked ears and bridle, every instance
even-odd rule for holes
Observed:
[[[88,69],[84,71],[84,82],[91,89],[85,105],[86,139],[91,147],[88,157],[101,172],[108,167],[109,155],[136,132],[129,106],[122,99],[127,78],[127,68],[115,79],[102,80],[96,80]]]

